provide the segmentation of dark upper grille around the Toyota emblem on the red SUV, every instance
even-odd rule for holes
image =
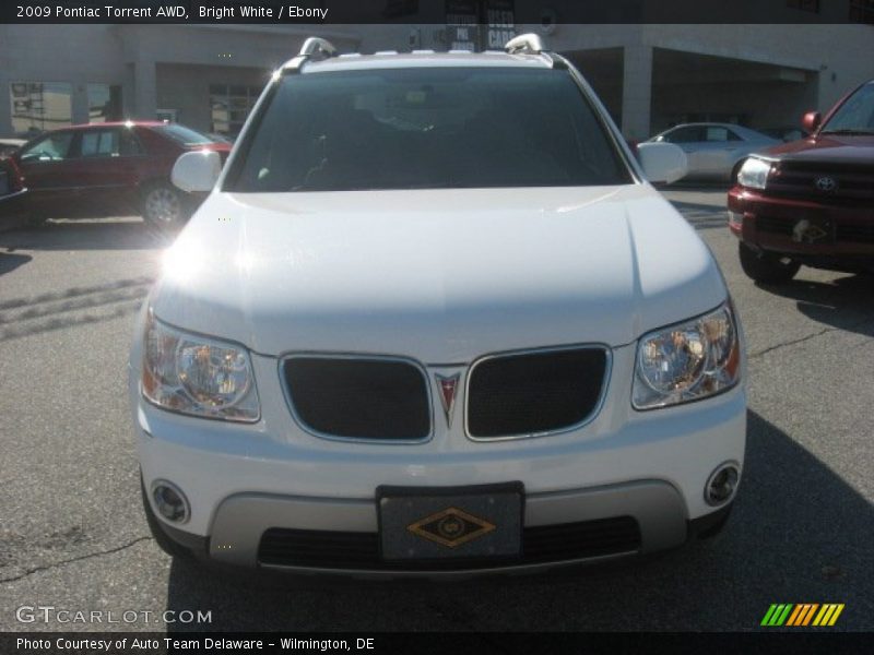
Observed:
[[[830,177],[837,188],[823,192],[816,180]],[[781,162],[768,178],[768,194],[803,198],[825,204],[870,206],[874,201],[874,166],[823,162]]]

